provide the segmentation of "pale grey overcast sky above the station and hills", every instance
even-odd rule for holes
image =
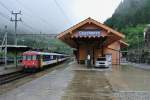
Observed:
[[[122,0],[0,0],[0,28],[10,22],[11,11],[22,11],[23,22],[18,22],[22,33],[57,34],[72,25],[92,17],[104,22],[111,17]]]

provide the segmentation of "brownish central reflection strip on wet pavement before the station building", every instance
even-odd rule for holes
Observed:
[[[112,87],[104,71],[87,69],[82,65],[71,67],[74,78],[62,100],[112,100]]]

